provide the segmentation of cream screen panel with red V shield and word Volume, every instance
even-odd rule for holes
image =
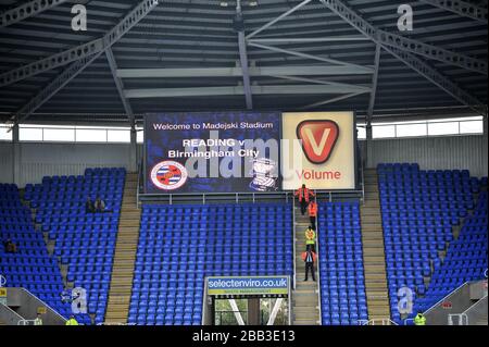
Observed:
[[[353,112],[284,113],[283,139],[284,190],[355,188]]]

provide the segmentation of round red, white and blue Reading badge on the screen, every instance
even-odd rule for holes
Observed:
[[[162,161],[151,170],[151,182],[162,190],[180,188],[188,178],[187,169],[176,161]]]

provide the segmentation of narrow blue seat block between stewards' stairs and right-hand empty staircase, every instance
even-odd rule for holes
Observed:
[[[368,320],[359,202],[319,203],[318,245],[323,325]]]

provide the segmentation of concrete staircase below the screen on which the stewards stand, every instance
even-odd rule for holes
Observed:
[[[319,290],[319,282],[317,281],[317,263],[315,264],[316,282],[312,281],[311,273],[309,281],[305,278],[305,264],[301,255],[305,251],[304,232],[310,225],[309,216],[302,216],[301,209],[296,208],[296,289],[292,289],[292,325],[321,325],[319,302],[317,293]]]

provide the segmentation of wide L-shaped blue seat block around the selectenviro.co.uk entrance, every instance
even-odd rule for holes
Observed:
[[[290,205],[143,206],[129,324],[199,325],[205,276],[292,275]]]

